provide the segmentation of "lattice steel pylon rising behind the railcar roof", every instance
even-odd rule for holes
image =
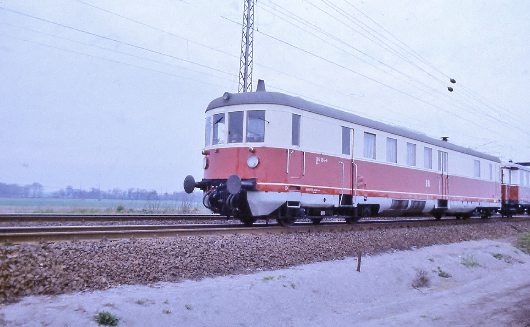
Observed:
[[[254,0],[244,0],[243,35],[238,92],[252,92],[252,48],[254,43]]]

